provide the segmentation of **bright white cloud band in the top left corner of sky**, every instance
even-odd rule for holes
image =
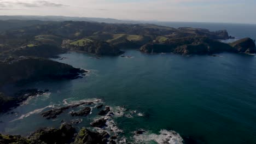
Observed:
[[[0,8],[15,8],[15,7],[65,7],[68,5],[63,5],[60,3],[53,3],[48,1],[31,1],[31,2],[23,2],[23,1],[0,1]]]

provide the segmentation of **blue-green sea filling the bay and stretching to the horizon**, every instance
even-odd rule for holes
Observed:
[[[231,23],[159,22],[171,27],[227,29],[237,39],[256,39],[256,25]],[[19,88],[49,89],[0,115],[4,134],[28,135],[42,127],[59,127],[74,117],[62,113],[54,120],[40,117],[45,110],[79,100],[101,99],[125,115],[114,117],[116,130],[136,143],[161,143],[179,135],[201,143],[256,142],[256,56],[220,53],[219,57],[181,56],[171,53],[148,55],[125,50],[125,57],[96,58],[70,52],[54,59],[90,71],[83,79],[40,81]],[[94,109],[93,109],[94,111]],[[128,115],[128,114],[130,115]],[[77,129],[89,127],[95,116],[78,117]],[[144,129],[147,134],[133,136]],[[178,135],[174,132],[176,131]]]

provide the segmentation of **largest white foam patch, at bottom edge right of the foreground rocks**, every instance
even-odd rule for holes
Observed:
[[[141,135],[133,136],[136,143],[146,143],[155,141],[159,144],[170,143],[170,144],[181,144],[183,143],[182,137],[176,133],[176,131],[161,130],[160,134],[144,133]]]

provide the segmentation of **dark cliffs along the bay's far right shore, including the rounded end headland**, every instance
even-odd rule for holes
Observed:
[[[221,52],[255,53],[256,48],[252,39],[246,38],[225,44],[207,37],[186,37],[168,39],[164,43],[148,43],[140,48],[146,53],[173,52],[182,55],[211,55]]]

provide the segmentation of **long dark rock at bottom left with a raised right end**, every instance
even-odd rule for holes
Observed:
[[[32,133],[28,139],[37,140],[45,143],[71,143],[75,129],[72,125],[64,124],[59,129],[42,128]]]

